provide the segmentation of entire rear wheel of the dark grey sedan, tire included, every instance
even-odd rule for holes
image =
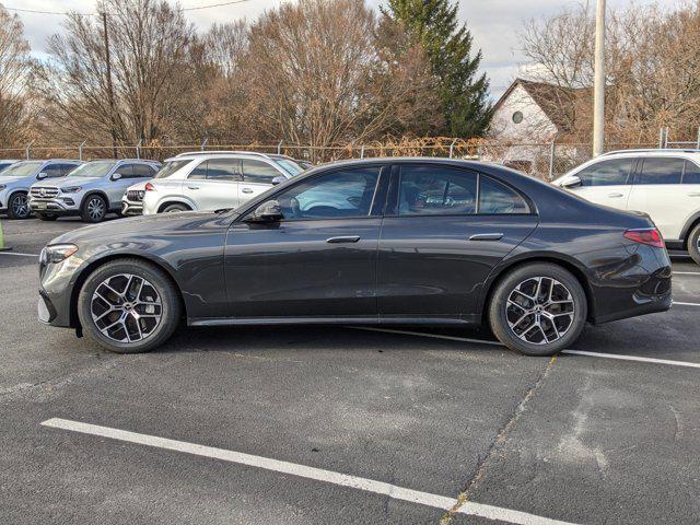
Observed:
[[[527,294],[521,292],[530,288]],[[538,299],[525,299],[528,295]],[[581,283],[564,268],[549,262],[520,266],[506,273],[497,283],[488,310],[499,341],[526,355],[552,355],[568,348],[581,335],[587,313]],[[521,324],[518,319],[523,319]]]

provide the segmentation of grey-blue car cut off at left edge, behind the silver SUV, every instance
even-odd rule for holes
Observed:
[[[37,180],[65,177],[81,164],[71,159],[15,162],[0,172],[0,211],[7,211],[10,219],[27,219],[32,214],[30,187]]]

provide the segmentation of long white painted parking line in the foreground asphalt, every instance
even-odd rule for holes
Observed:
[[[448,511],[457,504],[454,498],[431,494],[429,492],[420,492],[418,490],[406,489],[395,485],[375,481],[368,478],[359,478],[347,474],[325,470],[296,463],[281,462],[264,456],[254,456],[242,452],[226,451],[224,448],[214,448],[212,446],[198,445],[196,443],[187,443],[185,441],[168,440],[156,435],[140,434],[129,432],[127,430],[113,429],[109,427],[101,427],[98,424],[82,423],[80,421],[71,421],[68,419],[52,418],[42,423],[45,427],[55,429],[70,430],[83,434],[100,435],[112,440],[136,443],[139,445],[153,446],[164,448],[166,451],[183,452],[194,454],[196,456],[210,457],[224,462],[247,465],[250,467],[262,468],[276,472],[299,476],[301,478],[314,479],[316,481],[325,481],[327,483],[338,485],[341,487],[350,487],[352,489],[374,492],[376,494],[386,495],[395,500],[409,501],[420,505],[432,506]],[[518,525],[572,525],[567,522],[550,520],[547,517],[528,514],[526,512],[513,511],[500,506],[485,505],[467,501],[457,510],[460,514],[485,517],[499,522],[514,523]]]

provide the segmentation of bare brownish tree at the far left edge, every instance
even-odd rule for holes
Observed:
[[[16,145],[30,139],[34,104],[30,97],[33,63],[24,26],[0,5],[0,143]]]

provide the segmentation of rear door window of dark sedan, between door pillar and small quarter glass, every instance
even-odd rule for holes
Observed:
[[[476,174],[440,166],[401,167],[399,215],[471,214],[476,208]]]

